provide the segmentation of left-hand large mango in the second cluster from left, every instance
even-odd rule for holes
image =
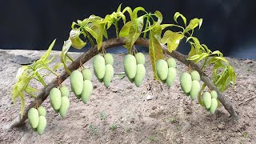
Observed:
[[[62,104],[62,93],[56,87],[50,90],[50,106],[58,110]]]

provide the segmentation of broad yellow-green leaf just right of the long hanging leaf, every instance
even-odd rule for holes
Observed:
[[[165,34],[163,34],[163,37],[161,39],[161,43],[167,43],[168,51],[171,53],[173,50],[177,49],[178,44],[182,40],[182,38],[184,38],[183,34],[178,34],[170,30],[166,30]]]

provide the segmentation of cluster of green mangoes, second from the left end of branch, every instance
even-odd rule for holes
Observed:
[[[61,86],[60,89],[54,87],[50,90],[50,106],[56,113],[59,113],[62,118],[66,115],[70,107],[70,90],[66,86]]]

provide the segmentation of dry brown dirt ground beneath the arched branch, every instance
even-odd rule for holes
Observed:
[[[13,103],[10,98],[21,66],[12,62],[18,54],[35,59],[43,52],[0,50],[0,143],[256,143],[256,98],[243,102],[256,95],[255,61],[228,58],[237,73],[237,82],[234,89],[230,87],[224,94],[238,112],[236,122],[229,118],[223,106],[210,114],[197,100],[192,102],[182,93],[178,78],[170,88],[155,82],[146,55],[147,73],[141,87],[122,75],[114,75],[110,87],[106,88],[94,76],[90,102],[84,104],[71,93],[66,118],[54,112],[48,98],[42,103],[47,111],[47,126],[40,136],[31,130],[28,122],[12,130],[5,128],[20,110],[19,100]],[[52,66],[59,62],[59,53],[54,51],[53,54],[56,59]],[[78,55],[71,54],[73,58]],[[122,54],[114,55],[115,72],[123,71],[122,58]],[[92,61],[84,66],[92,70]],[[179,76],[187,68],[178,62],[177,70]],[[53,75],[46,78],[46,82],[53,78]],[[69,79],[63,84],[70,86]],[[42,88],[36,82],[33,86]],[[147,100],[150,96],[154,98]],[[32,100],[27,97],[26,102]],[[240,102],[243,103],[239,105]]]

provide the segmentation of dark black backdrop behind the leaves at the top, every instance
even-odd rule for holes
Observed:
[[[50,42],[57,38],[54,50],[61,50],[72,22],[90,14],[104,18],[117,10],[120,3],[122,8],[142,6],[152,13],[160,10],[163,23],[174,23],[176,11],[186,16],[188,21],[203,18],[201,29],[194,34],[210,50],[221,50],[230,57],[256,59],[256,10],[253,0],[2,1],[0,49],[46,50]],[[109,38],[114,37],[113,29]],[[190,47],[183,41],[178,51],[186,54],[188,50]],[[111,52],[124,52],[124,49],[115,48]]]

